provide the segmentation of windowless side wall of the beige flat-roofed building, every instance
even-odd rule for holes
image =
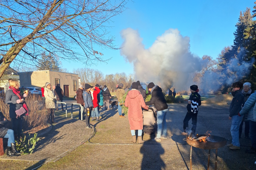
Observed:
[[[49,70],[20,72],[20,86],[41,88],[50,81]]]

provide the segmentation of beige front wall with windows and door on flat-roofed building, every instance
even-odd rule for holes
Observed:
[[[69,86],[69,95],[74,97],[76,95],[76,90],[79,86],[78,74],[63,73],[58,71],[49,71],[50,72],[50,83],[55,85],[55,79],[60,79],[60,85],[64,91],[64,85]],[[73,80],[76,80],[76,89],[73,89]]]

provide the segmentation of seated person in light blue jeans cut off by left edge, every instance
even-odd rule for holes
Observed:
[[[7,144],[7,153],[8,156],[20,155],[20,153],[16,149],[15,139],[14,139],[14,131],[12,129],[6,129],[5,125],[8,120],[3,116],[3,113],[0,112],[0,138],[8,138]]]

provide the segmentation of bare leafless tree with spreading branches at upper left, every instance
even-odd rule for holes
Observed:
[[[126,0],[0,0],[0,77],[14,62],[48,52],[87,65],[106,61],[95,47],[117,49],[108,32]],[[81,53],[78,51],[82,51]]]

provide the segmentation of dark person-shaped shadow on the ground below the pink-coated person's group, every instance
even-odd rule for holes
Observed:
[[[166,164],[160,157],[160,155],[164,154],[164,149],[161,144],[149,144],[149,142],[145,142],[140,148],[140,153],[143,154],[141,170],[165,169]]]

